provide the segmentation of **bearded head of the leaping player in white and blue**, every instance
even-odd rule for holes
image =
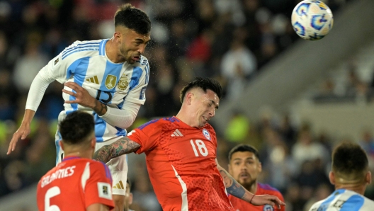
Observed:
[[[114,38],[120,55],[134,64],[151,39],[151,21],[144,11],[131,4],[123,4],[115,12],[114,25]]]

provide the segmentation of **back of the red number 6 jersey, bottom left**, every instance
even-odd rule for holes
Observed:
[[[113,207],[111,173],[105,164],[69,156],[38,183],[39,210],[86,210],[94,203]]]

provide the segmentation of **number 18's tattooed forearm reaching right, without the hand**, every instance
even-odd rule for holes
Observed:
[[[234,195],[237,198],[241,198],[246,202],[250,203],[251,198],[254,194],[246,190],[242,185],[240,185],[232,176],[222,167],[219,167],[218,170],[223,178],[227,193]]]

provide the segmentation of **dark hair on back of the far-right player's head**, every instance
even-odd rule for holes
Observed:
[[[343,142],[332,152],[332,171],[346,181],[361,180],[368,172],[368,156],[360,145]]]

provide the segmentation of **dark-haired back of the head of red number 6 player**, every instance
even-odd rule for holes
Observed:
[[[90,149],[95,147],[94,116],[83,111],[69,113],[59,124],[62,144],[67,154],[70,149]],[[94,146],[92,144],[94,143]]]

